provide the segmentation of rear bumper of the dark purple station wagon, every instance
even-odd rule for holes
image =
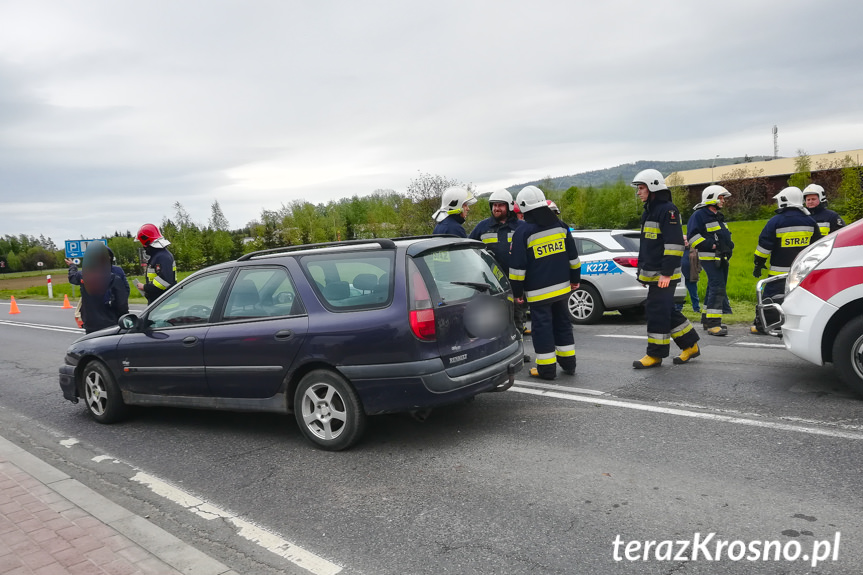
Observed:
[[[480,365],[459,366],[458,375],[445,369],[440,358],[338,369],[351,380],[369,415],[427,409],[508,387],[524,366],[524,343],[516,340],[473,363]]]

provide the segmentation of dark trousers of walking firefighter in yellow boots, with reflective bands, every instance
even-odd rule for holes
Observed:
[[[677,280],[661,288],[649,284],[647,301],[647,355],[668,357],[671,340],[680,349],[687,349],[698,343],[698,334],[682,313],[674,309],[674,288]]]

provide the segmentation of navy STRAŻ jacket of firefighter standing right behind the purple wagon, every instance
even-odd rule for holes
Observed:
[[[555,218],[556,220],[556,218]],[[512,237],[509,281],[516,298],[529,304],[569,297],[570,284],[581,281],[581,260],[569,229],[524,222]]]

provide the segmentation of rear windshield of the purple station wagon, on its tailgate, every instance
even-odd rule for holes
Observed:
[[[439,303],[454,303],[478,293],[509,290],[509,281],[494,258],[476,248],[441,249],[414,258],[426,281],[431,280]]]

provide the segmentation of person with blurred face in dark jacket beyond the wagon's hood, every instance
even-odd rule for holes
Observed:
[[[111,271],[111,253],[102,242],[90,242],[83,270],[69,268],[69,283],[81,286],[81,320],[92,333],[117,325],[129,313],[129,286]]]

